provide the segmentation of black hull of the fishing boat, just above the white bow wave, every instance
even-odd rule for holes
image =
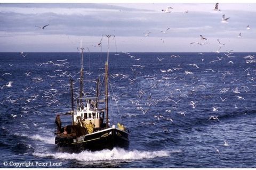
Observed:
[[[109,128],[80,137],[80,141],[73,137],[55,137],[55,144],[60,151],[79,152],[81,150],[102,150],[118,148],[129,148],[129,133]],[[81,139],[82,138],[82,139]]]

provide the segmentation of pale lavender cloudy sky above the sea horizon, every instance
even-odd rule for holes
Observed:
[[[167,6],[170,13],[162,11]],[[0,52],[76,52],[80,40],[90,52],[104,52],[104,35],[113,35],[110,52],[256,52],[256,3],[214,7],[215,2],[0,3]],[[221,23],[223,14],[228,23]]]

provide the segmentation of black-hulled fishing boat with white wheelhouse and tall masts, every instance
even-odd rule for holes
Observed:
[[[81,70],[79,81],[79,96],[75,99],[73,92],[73,81],[70,79],[71,87],[71,124],[61,126],[60,115],[57,115],[55,123],[55,144],[61,150],[81,151],[81,150],[102,150],[113,149],[114,147],[129,148],[129,131],[121,123],[110,124],[108,112],[108,58],[109,58],[109,37],[107,61],[105,64],[105,96],[99,95],[99,79],[97,81],[97,93],[95,97],[84,97],[84,69],[83,69],[83,49],[81,43]],[[102,81],[102,85],[103,85]],[[76,105],[74,104],[76,100]],[[76,107],[76,108],[74,108]]]

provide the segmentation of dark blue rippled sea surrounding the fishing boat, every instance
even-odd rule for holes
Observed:
[[[256,53],[110,53],[109,119],[129,128],[130,148],[74,154],[54,145],[54,119],[71,108],[68,75],[79,77],[79,54],[0,53],[0,167],[255,168],[249,55]],[[105,62],[106,53],[85,53],[85,79],[98,78]],[[91,87],[85,82],[87,94]]]

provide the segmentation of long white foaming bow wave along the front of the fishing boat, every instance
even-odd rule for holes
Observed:
[[[99,161],[99,160],[129,160],[129,159],[150,159],[155,157],[168,157],[173,151],[139,151],[139,150],[124,150],[122,148],[114,148],[113,150],[101,151],[82,151],[78,154],[69,154],[66,152],[57,153],[38,153],[34,152],[34,156],[38,157],[53,157],[56,159],[76,159],[81,162]]]

